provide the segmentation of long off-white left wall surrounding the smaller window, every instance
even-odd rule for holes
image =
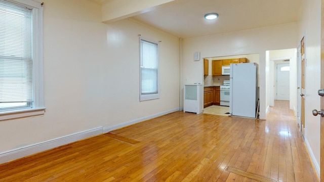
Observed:
[[[139,102],[138,34],[160,45],[160,99]],[[101,23],[100,5],[44,0],[44,116],[0,121],[0,154],[179,109],[179,39],[131,20]]]

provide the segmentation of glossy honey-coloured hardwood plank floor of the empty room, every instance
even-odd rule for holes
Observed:
[[[288,107],[171,113],[2,165],[0,181],[318,181]]]

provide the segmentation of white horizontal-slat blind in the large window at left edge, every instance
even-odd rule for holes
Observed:
[[[0,111],[33,106],[32,9],[0,1]]]

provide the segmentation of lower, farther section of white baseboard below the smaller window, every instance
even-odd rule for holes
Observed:
[[[136,124],[136,123],[148,120],[148,119],[163,116],[163,115],[173,113],[173,112],[176,112],[176,111],[180,111],[180,108],[175,108],[175,109],[171,109],[171,110],[168,110],[168,111],[164,111],[164,112],[144,116],[144,117],[141,117],[141,118],[137,118],[137,119],[133,119],[133,120],[130,120],[130,121],[123,122],[123,123],[119,123],[119,124],[116,124],[116,125],[113,125],[113,126],[104,127],[102,130],[103,130],[103,133],[106,133],[106,132],[109,132],[109,131],[112,131],[112,130],[115,130],[115,129],[118,129],[118,128],[122,128],[122,127],[125,127],[125,126]]]

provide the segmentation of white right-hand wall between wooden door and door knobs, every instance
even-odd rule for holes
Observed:
[[[320,24],[321,1],[303,1],[298,41],[305,36],[305,143],[315,169],[320,165],[320,117],[313,109],[320,109]]]

